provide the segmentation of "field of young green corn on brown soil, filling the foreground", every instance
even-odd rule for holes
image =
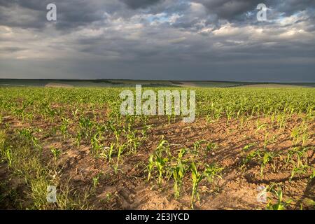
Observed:
[[[314,88],[186,87],[195,123],[125,88],[0,87],[0,209],[315,208]]]

